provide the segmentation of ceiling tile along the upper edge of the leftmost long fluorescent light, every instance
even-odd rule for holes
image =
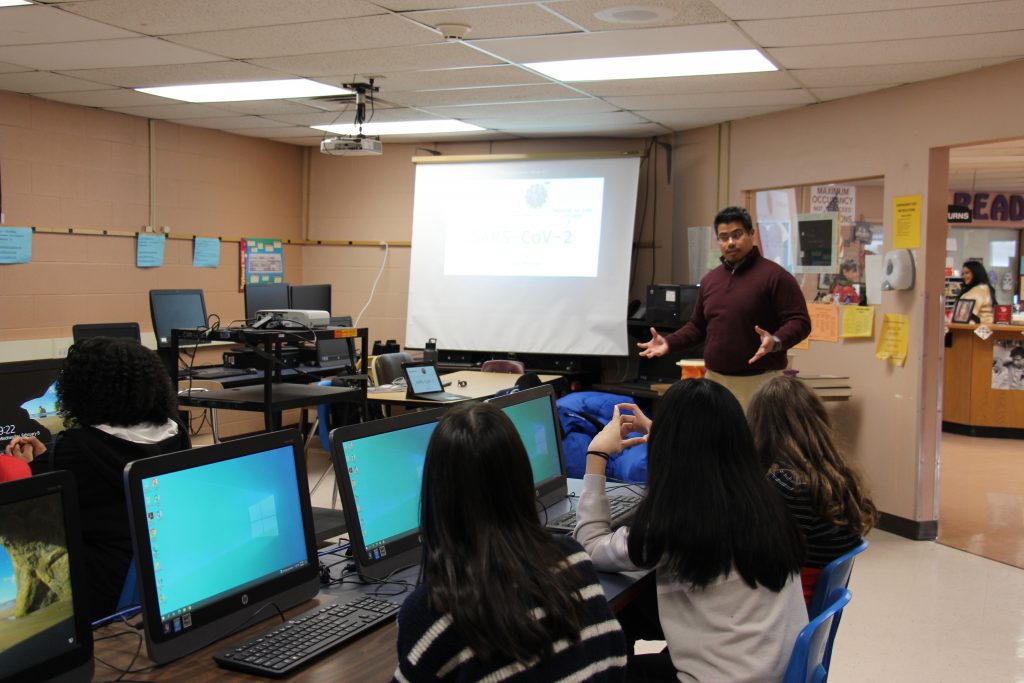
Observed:
[[[121,88],[141,88],[158,85],[189,85],[193,83],[231,83],[238,81],[270,81],[288,76],[245,61],[205,61],[185,65],[150,67],[116,67],[111,69],[61,70],[65,76],[116,85]]]

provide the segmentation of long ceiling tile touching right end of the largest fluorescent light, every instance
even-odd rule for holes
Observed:
[[[876,43],[776,47],[767,52],[785,69],[935,61],[938,55],[943,60],[1006,57],[1005,60],[1009,61],[1024,56],[1024,31],[959,36],[955,40],[916,38]]]

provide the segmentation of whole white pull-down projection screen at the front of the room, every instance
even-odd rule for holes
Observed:
[[[417,164],[406,344],[626,355],[639,165]]]

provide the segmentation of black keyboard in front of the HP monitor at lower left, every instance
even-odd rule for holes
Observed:
[[[288,676],[398,614],[399,605],[364,597],[313,607],[278,628],[213,655],[225,669],[257,676]]]

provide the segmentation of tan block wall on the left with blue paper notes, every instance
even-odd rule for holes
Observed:
[[[170,123],[154,135],[157,225],[301,237],[302,150]],[[134,232],[150,222],[144,119],[0,92],[0,173],[7,225]],[[62,355],[76,323],[148,331],[150,289],[201,288],[223,324],[243,317],[237,242],[221,243],[216,269],[191,267],[187,240],[168,241],[162,268],[136,268],[134,250],[132,238],[37,233],[31,263],[0,266],[0,360]],[[301,282],[303,256],[286,248],[286,276]]]

